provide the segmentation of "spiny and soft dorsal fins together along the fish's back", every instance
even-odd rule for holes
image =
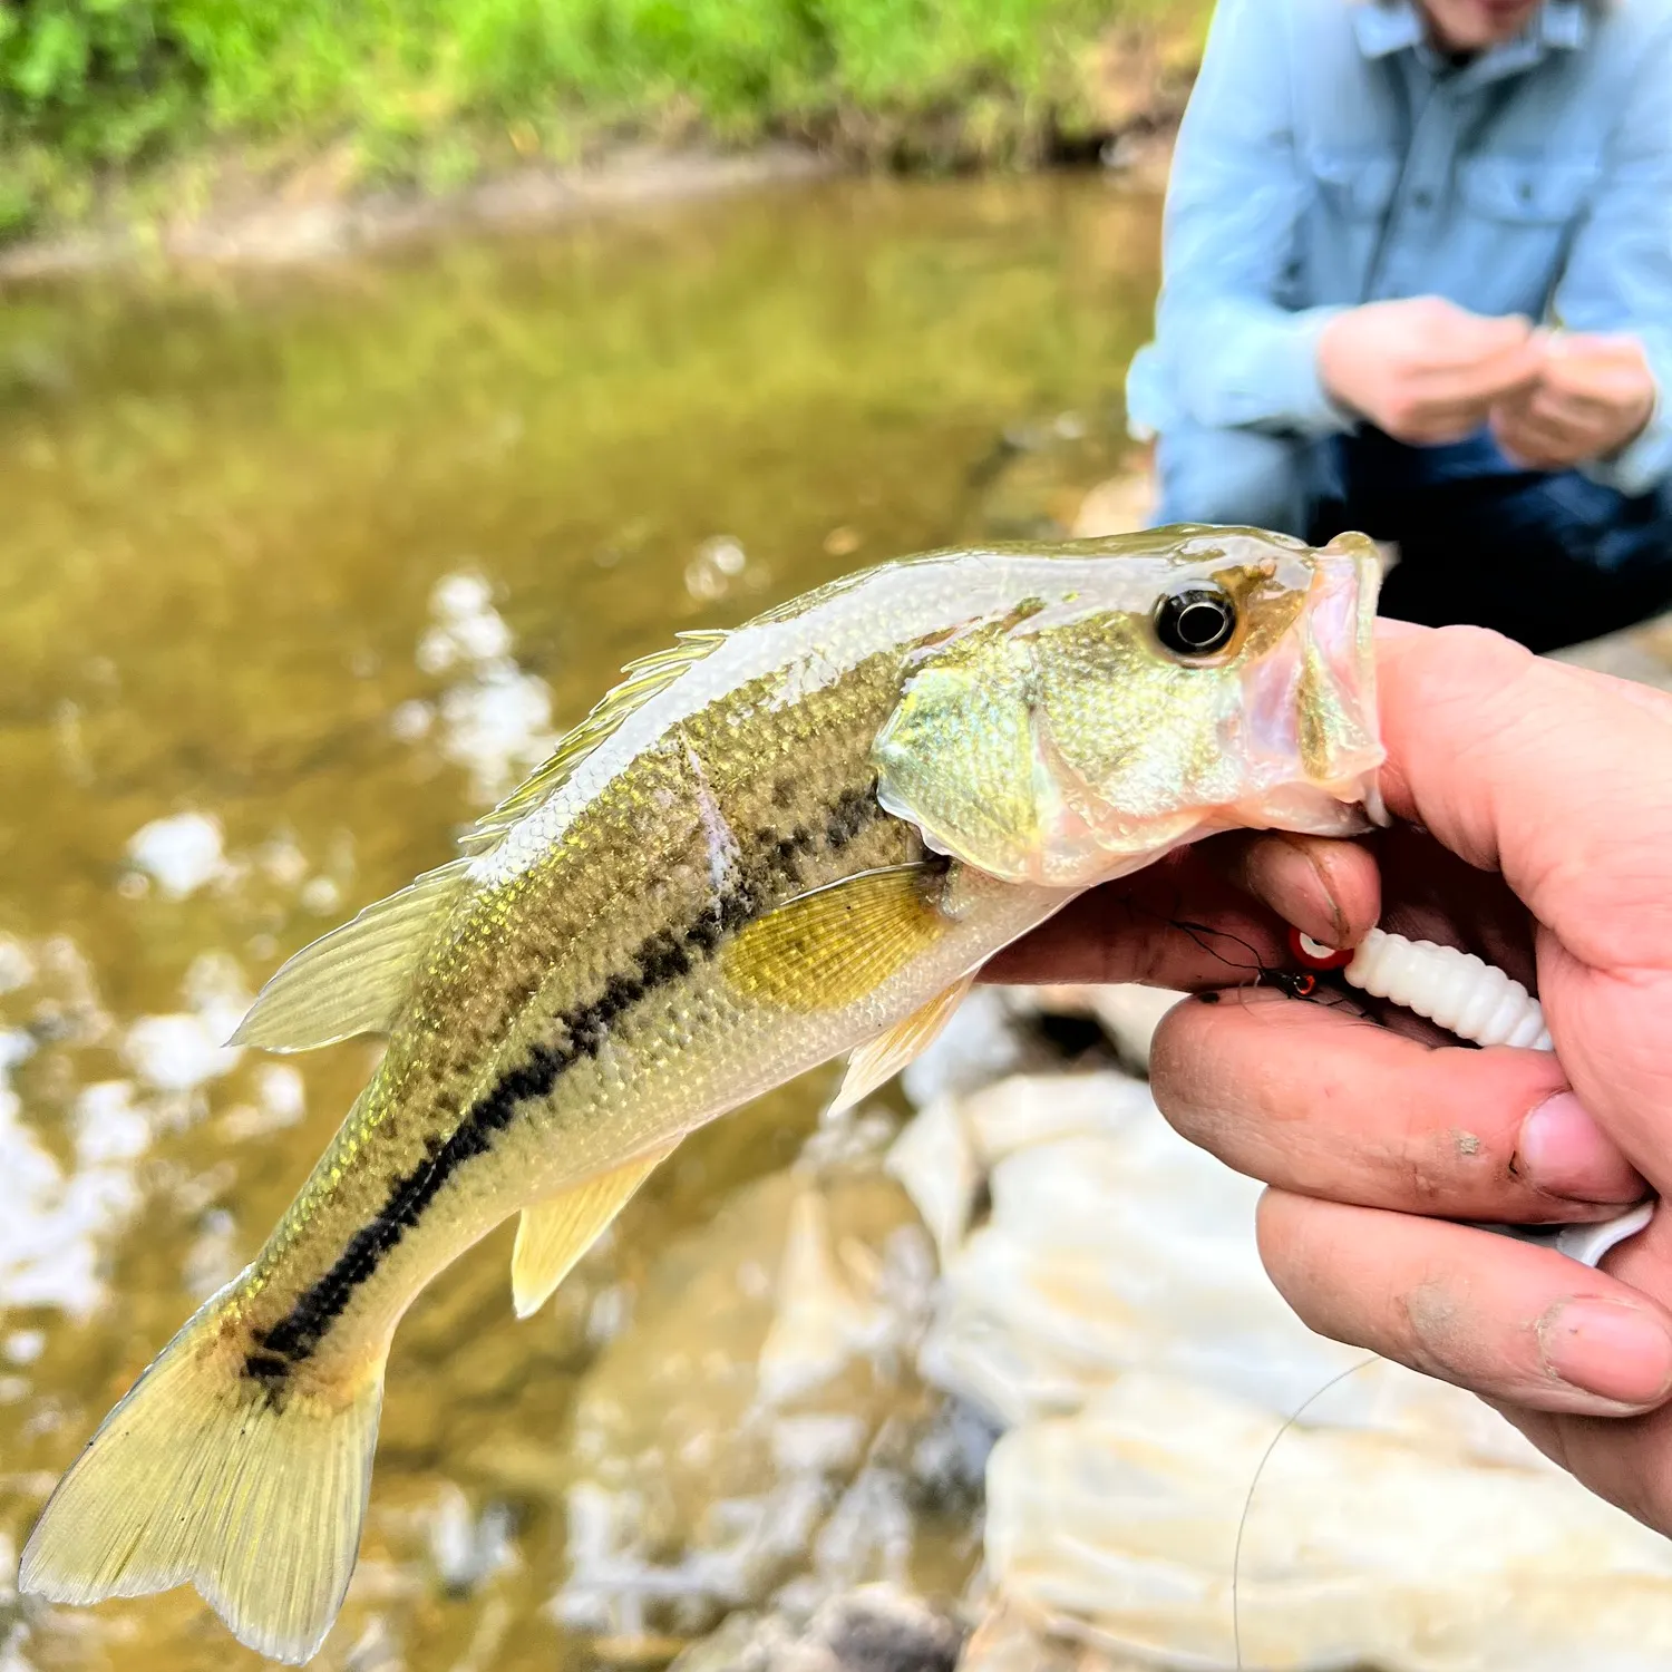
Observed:
[[[304,946],[261,990],[231,1043],[291,1052],[388,1033],[420,961],[468,884],[472,859],[497,848],[629,714],[724,640],[722,632],[682,632],[672,649],[629,662],[622,682],[558,741],[552,757],[470,828],[460,841],[463,859],[420,876]]]

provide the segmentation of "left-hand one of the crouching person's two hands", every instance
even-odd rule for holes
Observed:
[[[1542,366],[1532,321],[1483,319],[1440,296],[1349,308],[1318,339],[1329,395],[1413,446],[1473,435]]]

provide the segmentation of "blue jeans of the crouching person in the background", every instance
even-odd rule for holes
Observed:
[[[1398,620],[1555,650],[1672,607],[1672,483],[1629,500],[1578,472],[1520,470],[1485,431],[1406,446],[1368,426],[1328,441],[1184,426],[1160,438],[1157,466],[1157,523],[1398,543],[1381,592]]]

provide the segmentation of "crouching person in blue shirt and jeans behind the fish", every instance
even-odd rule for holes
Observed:
[[[1134,433],[1535,650],[1672,604],[1672,0],[1221,0]]]

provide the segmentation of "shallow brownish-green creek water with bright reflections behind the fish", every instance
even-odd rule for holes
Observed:
[[[249,995],[674,630],[1072,518],[1154,242],[1095,181],[844,184],[10,299],[0,1583],[364,1080],[364,1042],[227,1050]],[[507,1236],[420,1302],[321,1665],[652,1665],[737,1600],[956,1592],[985,1441],[910,1366],[905,1199],[789,1170],[828,1088],[687,1144],[527,1324]],[[0,1672],[254,1664],[191,1593],[0,1590]]]

